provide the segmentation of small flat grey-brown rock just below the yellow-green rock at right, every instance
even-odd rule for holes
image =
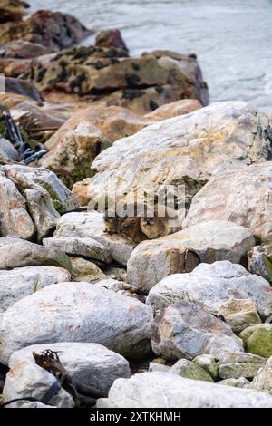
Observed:
[[[266,359],[251,353],[228,353],[219,361],[219,377],[222,379],[252,379],[266,363]]]

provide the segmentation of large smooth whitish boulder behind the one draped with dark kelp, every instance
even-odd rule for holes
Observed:
[[[103,344],[129,357],[150,349],[151,308],[126,295],[89,283],[47,286],[5,311],[0,330],[0,362],[31,344]]]

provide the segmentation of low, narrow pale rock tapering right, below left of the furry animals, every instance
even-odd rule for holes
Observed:
[[[91,237],[44,238],[43,245],[53,250],[62,250],[68,255],[89,257],[108,264],[112,262],[109,249]]]

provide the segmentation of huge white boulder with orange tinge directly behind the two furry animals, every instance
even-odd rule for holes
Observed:
[[[118,140],[94,160],[97,173],[89,180],[89,197],[99,198],[106,181],[127,203],[136,190],[156,193],[163,185],[179,184],[185,186],[189,207],[213,176],[268,160],[268,128],[268,117],[245,102],[213,103],[160,121]]]

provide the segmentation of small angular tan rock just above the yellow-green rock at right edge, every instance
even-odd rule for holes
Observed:
[[[257,314],[257,308],[253,300],[231,299],[219,308],[219,315],[222,315],[226,323],[235,333],[239,334],[249,325],[261,324],[261,319]]]

